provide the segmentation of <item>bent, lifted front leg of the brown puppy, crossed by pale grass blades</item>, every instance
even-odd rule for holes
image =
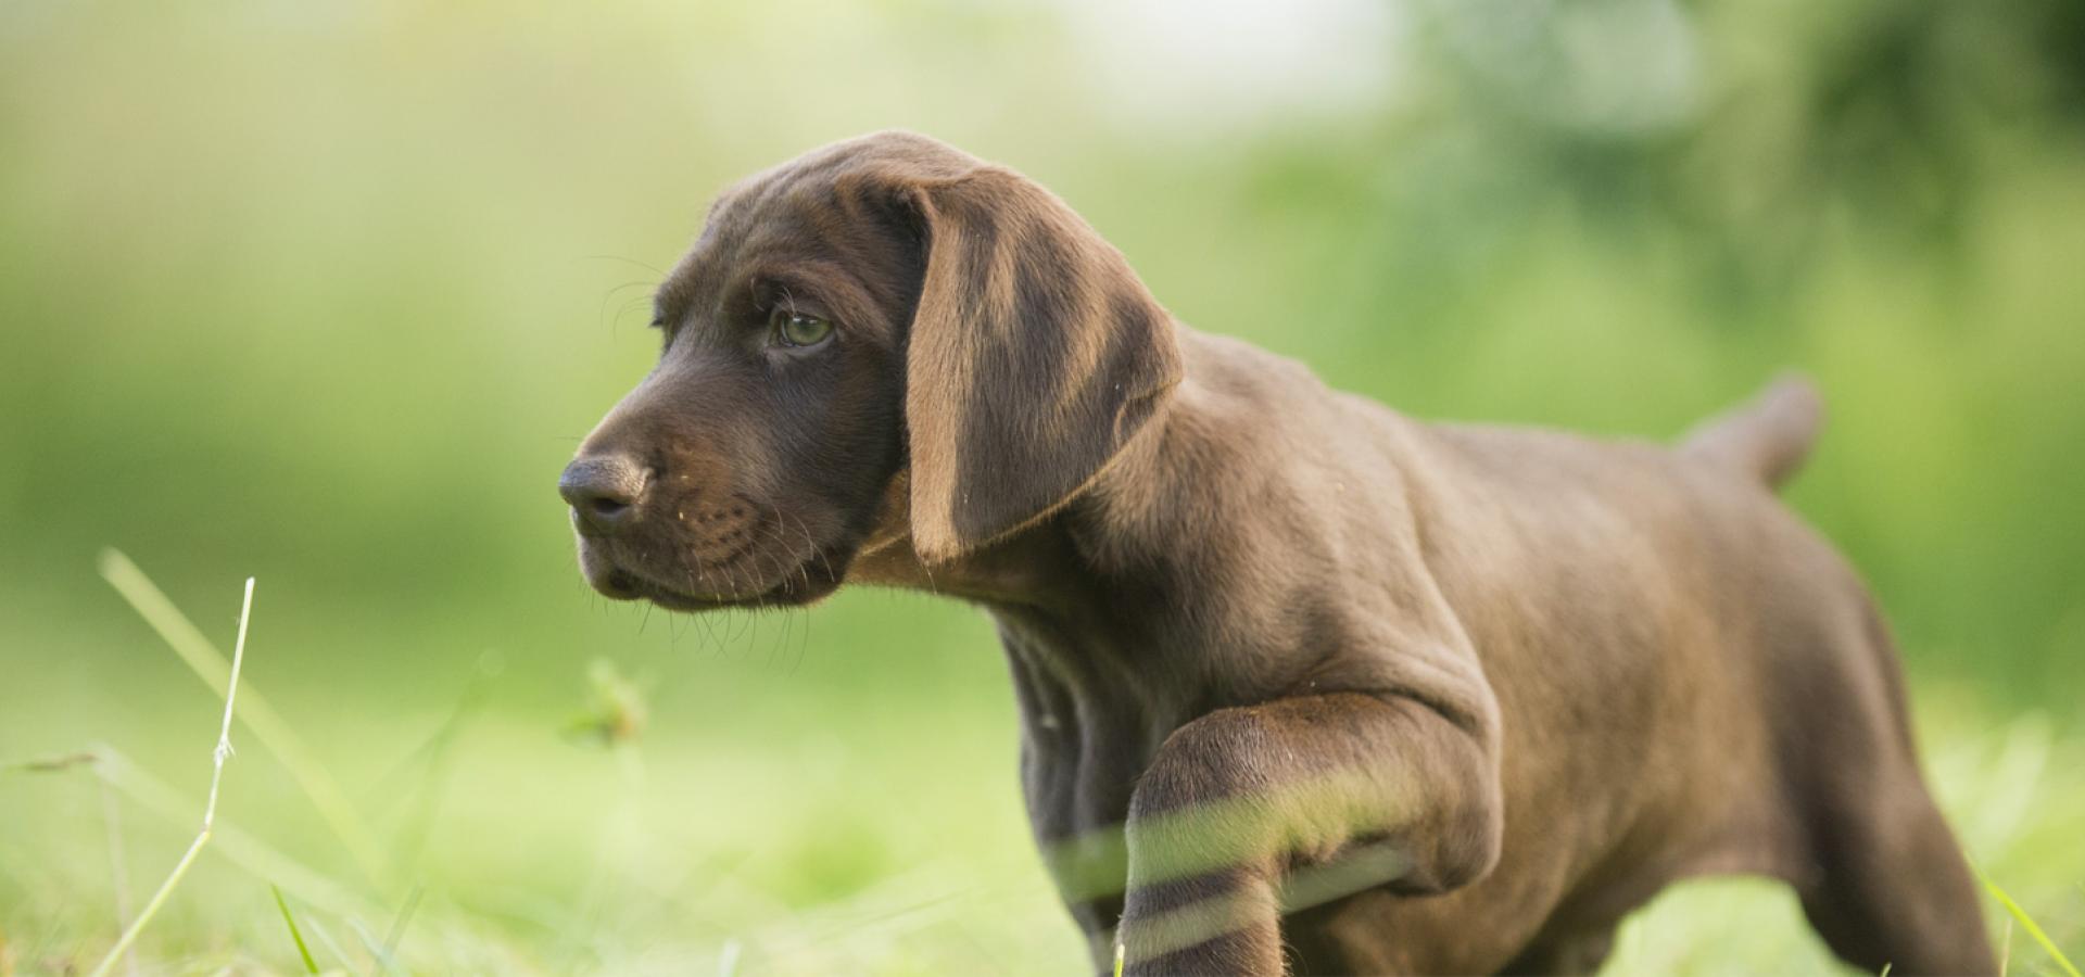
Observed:
[[[1166,740],[1130,800],[1126,973],[1278,975],[1284,908],[1466,885],[1491,871],[1501,827],[1480,729],[1420,702],[1211,712]]]

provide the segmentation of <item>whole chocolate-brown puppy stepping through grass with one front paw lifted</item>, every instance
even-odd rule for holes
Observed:
[[[588,581],[986,608],[1097,967],[1585,971],[1764,873],[1847,962],[1991,969],[1883,621],[1772,496],[1801,383],[1678,450],[1416,423],[903,133],[728,190],[657,308],[561,483]]]

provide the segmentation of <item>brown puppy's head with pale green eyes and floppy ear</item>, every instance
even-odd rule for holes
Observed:
[[[905,133],[728,190],[655,306],[659,365],[559,492],[594,590],[673,608],[817,600],[872,533],[932,565],[1022,529],[1180,379],[1078,215]]]

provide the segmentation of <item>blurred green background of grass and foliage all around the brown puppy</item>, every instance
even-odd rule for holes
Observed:
[[[1668,437],[1814,375],[1791,500],[1889,610],[1972,860],[2079,956],[2081,123],[2075,0],[8,0],[0,973],[98,960],[208,783],[221,700],[106,546],[225,652],[259,577],[242,708],[311,752],[234,731],[244,844],[144,973],[302,969],[271,883],[329,969],[1082,967],[980,612],[609,604],[553,492],[709,198],[882,127],[1414,415]],[[648,712],[609,748],[594,660]],[[1749,881],[1683,885],[1610,965],[1831,967]]]

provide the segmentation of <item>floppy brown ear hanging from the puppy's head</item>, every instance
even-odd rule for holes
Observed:
[[[911,183],[926,277],[905,354],[911,533],[942,562],[1070,500],[1180,381],[1172,317],[1020,173]]]

